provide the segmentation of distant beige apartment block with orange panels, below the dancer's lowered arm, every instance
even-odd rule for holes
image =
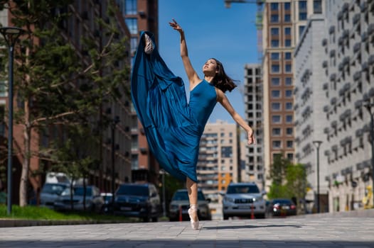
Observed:
[[[197,174],[205,196],[218,201],[219,192],[237,182],[240,145],[237,125],[218,120],[207,123],[200,142]]]

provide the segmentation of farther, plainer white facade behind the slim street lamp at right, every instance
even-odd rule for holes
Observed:
[[[319,73],[321,57],[324,48],[321,40],[324,38],[324,15],[316,14],[309,18],[304,32],[294,50],[294,111],[295,111],[295,157],[296,162],[303,164],[306,169],[306,210],[318,210],[317,197],[320,201],[320,212],[328,212],[327,159],[322,155],[327,140],[322,126],[328,125],[323,108],[326,102],[322,84],[324,74]],[[316,154],[319,145],[319,154]],[[318,168],[317,168],[318,166]]]

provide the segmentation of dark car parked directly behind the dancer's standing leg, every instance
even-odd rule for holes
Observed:
[[[209,208],[210,199],[205,198],[203,191],[198,190],[198,218],[199,220],[212,220],[212,215]],[[179,189],[173,194],[169,204],[169,220],[179,220],[180,210],[182,211],[182,220],[189,219],[188,208],[190,202],[188,200],[188,193],[186,189]]]

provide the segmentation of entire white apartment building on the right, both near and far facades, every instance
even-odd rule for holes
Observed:
[[[315,194],[313,141],[322,141],[320,194],[338,212],[362,208],[373,185],[364,103],[374,100],[374,1],[328,0],[324,8],[324,21],[310,18],[294,52],[296,159],[306,165]]]

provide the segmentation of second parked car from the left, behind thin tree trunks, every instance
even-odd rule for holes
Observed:
[[[96,186],[86,186],[86,191],[83,186],[73,187],[73,210],[89,210],[101,213],[103,205],[104,198],[100,196],[100,190]],[[65,188],[65,191],[55,201],[54,208],[55,210],[71,210],[70,187]]]

